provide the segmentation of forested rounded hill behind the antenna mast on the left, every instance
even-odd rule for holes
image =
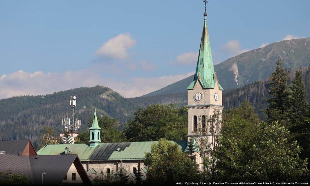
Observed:
[[[64,116],[71,116],[70,95],[78,98],[77,116],[86,129],[94,107],[98,115],[105,114],[126,121],[135,107],[131,102],[107,87],[76,88],[45,96],[20,96],[0,100],[0,139],[36,140],[44,125],[57,127]],[[60,130],[60,127],[57,128]]]

